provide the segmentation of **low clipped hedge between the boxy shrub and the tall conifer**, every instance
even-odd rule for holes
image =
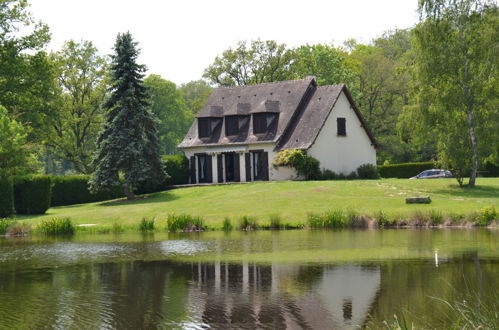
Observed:
[[[124,196],[121,184],[91,193],[88,189],[89,175],[54,175],[51,180],[51,206],[100,202]]]

